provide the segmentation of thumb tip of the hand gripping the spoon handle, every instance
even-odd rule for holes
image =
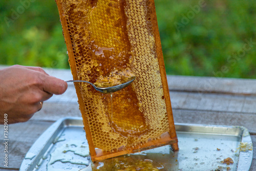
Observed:
[[[52,76],[46,76],[43,82],[43,90],[50,94],[63,94],[67,88],[67,82]]]

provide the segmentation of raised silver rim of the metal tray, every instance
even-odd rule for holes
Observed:
[[[81,121],[80,124],[74,124],[77,121]],[[51,126],[48,127],[48,129],[40,135],[40,137],[33,143],[33,145],[30,147],[29,151],[27,154],[34,154],[35,156],[32,159],[26,159],[24,158],[22,164],[20,165],[19,170],[20,171],[26,171],[29,168],[34,168],[36,165],[42,160],[41,158],[44,157],[42,155],[45,155],[47,153],[47,150],[50,148],[51,145],[53,145],[53,141],[55,137],[59,134],[62,133],[63,128],[65,127],[81,127],[83,126],[82,123],[82,117],[64,117],[60,118],[57,121],[55,121]],[[210,124],[191,124],[191,123],[175,123],[176,127],[176,132],[191,132],[191,133],[209,133],[202,131],[200,129],[201,127],[206,127],[206,129],[214,129],[217,131],[215,134],[222,134],[222,135],[230,135],[230,136],[241,136],[241,141],[240,142],[247,142],[247,143],[252,143],[250,135],[243,135],[247,129],[244,126],[227,126],[227,125],[210,125]],[[185,130],[181,130],[180,128],[183,127]],[[198,129],[199,131],[195,130],[186,130],[188,127],[193,127]],[[201,130],[201,131],[200,131]],[[221,133],[222,130],[231,130],[233,131],[233,134],[228,134],[228,133]],[[210,133],[209,133],[210,134]],[[50,146],[49,146],[50,144]],[[46,147],[48,145],[48,147]],[[45,149],[46,148],[46,149]],[[27,156],[26,154],[26,156]],[[248,151],[246,153],[240,152],[239,153],[239,159],[238,159],[238,165],[237,165],[237,170],[238,171],[245,171],[250,169],[250,165],[252,162],[252,157],[253,157],[253,150]],[[245,158],[247,158],[247,163],[242,162]]]

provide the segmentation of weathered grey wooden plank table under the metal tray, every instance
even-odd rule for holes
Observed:
[[[2,66],[3,67],[3,66]],[[2,68],[0,67],[0,68]],[[63,80],[72,79],[70,70],[46,69]],[[176,123],[240,125],[256,146],[256,80],[216,77],[167,76]],[[81,117],[72,83],[67,92],[44,102],[41,111],[25,123],[8,127],[8,169],[4,166],[4,126],[0,126],[0,170],[18,170],[35,140],[56,120]],[[256,155],[250,170],[256,170]]]

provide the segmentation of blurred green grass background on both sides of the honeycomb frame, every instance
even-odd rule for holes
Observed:
[[[256,78],[255,0],[155,4],[167,74]],[[54,0],[0,1],[0,18],[0,65],[69,68]]]

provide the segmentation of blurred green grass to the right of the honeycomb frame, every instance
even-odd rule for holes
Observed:
[[[166,72],[256,78],[255,1],[200,2],[155,1]]]

